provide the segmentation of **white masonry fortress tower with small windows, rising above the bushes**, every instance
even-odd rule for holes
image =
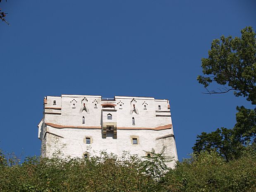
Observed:
[[[169,100],[153,97],[47,96],[38,138],[43,157],[87,157],[101,150],[146,156],[165,147],[165,156],[178,160]]]

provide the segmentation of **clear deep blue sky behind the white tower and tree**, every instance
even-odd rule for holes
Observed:
[[[169,99],[179,160],[196,135],[232,128],[244,98],[196,81],[214,38],[256,29],[254,0],[8,0],[0,3],[0,148],[39,155],[43,97]]]

